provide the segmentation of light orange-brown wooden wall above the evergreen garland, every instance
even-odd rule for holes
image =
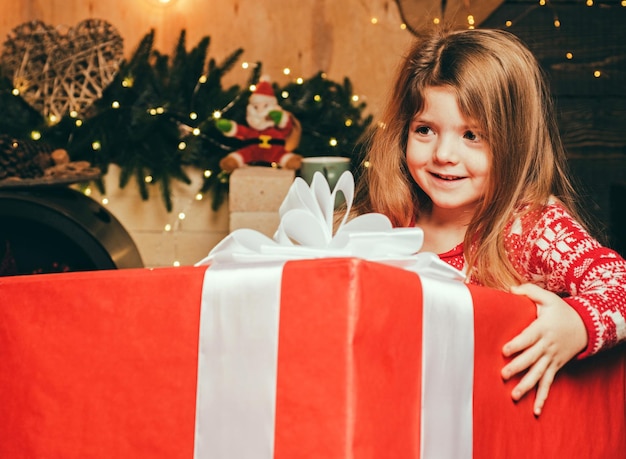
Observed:
[[[211,37],[210,56],[218,61],[238,48],[242,60],[262,62],[273,79],[313,76],[325,71],[334,80],[350,78],[368,110],[382,103],[397,62],[412,40],[400,28],[393,1],[376,0],[26,0],[0,1],[0,38],[33,19],[54,26],[72,26],[82,19],[105,19],[124,38],[130,55],[141,38],[155,29],[156,48],[171,54],[180,32],[187,31],[191,48]],[[377,24],[371,18],[378,19]],[[248,72],[233,69],[226,84],[243,83]],[[232,81],[231,81],[232,80]]]

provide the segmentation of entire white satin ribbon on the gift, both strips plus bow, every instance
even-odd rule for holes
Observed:
[[[333,236],[337,192],[344,194],[347,210]],[[340,177],[332,193],[320,173],[311,187],[296,178],[280,207],[281,221],[273,239],[249,229],[236,230],[198,263],[209,269],[200,319],[196,459],[273,456],[282,266],[288,260],[323,257],[363,258],[420,275],[423,328],[429,335],[422,352],[440,356],[439,346],[455,343],[445,361],[440,357],[424,360],[423,397],[429,406],[431,399],[443,405],[422,413],[423,458],[471,457],[473,375],[464,365],[469,362],[473,367],[473,352],[467,357],[467,350],[473,348],[473,321],[464,322],[467,310],[472,312],[471,296],[460,282],[464,275],[435,254],[417,253],[423,242],[419,228],[393,228],[381,214],[365,214],[348,222],[353,196],[354,179],[349,172]],[[439,283],[433,284],[435,280]],[[466,311],[455,324],[448,323],[455,308],[461,307]],[[458,328],[469,329],[469,341]],[[457,340],[457,335],[465,338]],[[464,352],[457,353],[461,349]],[[467,403],[457,404],[453,391],[469,403],[469,417]],[[467,425],[469,450],[464,440]],[[463,434],[461,442],[459,433]],[[450,444],[458,444],[462,454],[456,454],[459,449],[451,449]]]

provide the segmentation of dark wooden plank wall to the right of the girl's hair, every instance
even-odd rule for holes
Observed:
[[[626,7],[508,0],[481,26],[510,30],[539,59],[586,207],[601,236],[626,254],[626,213],[611,211],[626,203]]]

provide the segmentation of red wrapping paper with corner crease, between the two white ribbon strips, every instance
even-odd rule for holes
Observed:
[[[275,457],[419,457],[417,277],[360,260],[316,264],[283,273]]]

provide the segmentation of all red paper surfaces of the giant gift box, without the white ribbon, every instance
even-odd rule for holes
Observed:
[[[0,278],[0,457],[191,459],[205,269]],[[514,403],[500,378],[502,345],[534,305],[469,289],[473,456],[623,455],[624,348],[568,365],[535,418],[532,396]],[[423,326],[411,272],[287,263],[274,457],[418,458]]]

